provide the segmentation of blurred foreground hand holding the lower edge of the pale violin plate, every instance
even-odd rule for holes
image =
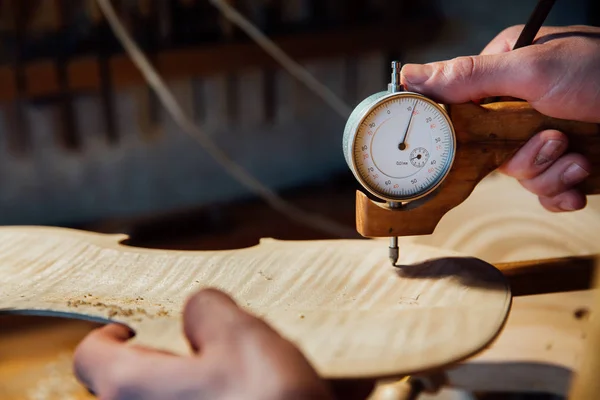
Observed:
[[[130,331],[110,324],[80,343],[75,375],[106,400],[334,398],[335,385],[321,380],[291,342],[224,293],[194,295],[183,318],[193,356],[127,345]],[[372,386],[362,389],[366,398]]]

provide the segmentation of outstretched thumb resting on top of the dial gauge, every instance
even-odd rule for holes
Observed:
[[[441,103],[464,103],[485,97],[536,98],[543,82],[536,76],[530,49],[458,57],[429,64],[406,64],[401,83]],[[537,79],[537,81],[536,81]]]

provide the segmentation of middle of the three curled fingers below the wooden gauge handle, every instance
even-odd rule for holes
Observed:
[[[580,154],[567,154],[550,168],[532,179],[522,180],[521,185],[542,197],[554,197],[571,190],[589,176],[591,165]]]

